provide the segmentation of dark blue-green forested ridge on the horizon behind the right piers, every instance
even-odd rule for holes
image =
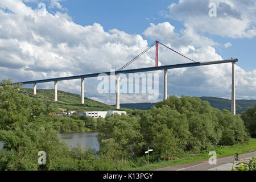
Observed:
[[[225,98],[217,97],[200,97],[203,101],[209,101],[210,105],[216,107],[220,110],[228,109],[230,110],[231,101]],[[256,103],[256,100],[236,100],[236,111],[237,113],[242,113],[247,107],[252,107]],[[121,107],[126,107],[130,109],[142,109],[148,110],[156,103],[144,102],[144,103],[134,103],[134,104],[120,104]]]

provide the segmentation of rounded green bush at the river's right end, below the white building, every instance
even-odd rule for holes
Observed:
[[[105,118],[105,122],[100,126],[100,152],[105,154],[109,151],[105,146],[113,146],[120,151],[118,156],[127,157],[133,154],[138,155],[142,151],[144,144],[141,135],[139,118],[129,115],[113,114]],[[108,140],[106,140],[108,139]]]

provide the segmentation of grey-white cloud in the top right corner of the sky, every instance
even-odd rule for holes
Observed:
[[[215,3],[217,16],[209,16],[209,4]],[[256,2],[254,0],[180,0],[172,3],[170,18],[184,21],[196,31],[231,38],[256,36]]]

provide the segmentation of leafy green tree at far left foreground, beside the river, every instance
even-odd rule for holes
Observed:
[[[19,93],[10,80],[3,80],[1,85],[0,141],[5,148],[0,152],[1,169],[76,169],[69,147],[44,121],[47,107],[42,100]],[[39,151],[47,154],[46,166],[38,164]]]

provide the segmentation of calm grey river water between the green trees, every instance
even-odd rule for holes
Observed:
[[[72,132],[60,133],[60,140],[67,142],[69,146],[76,147],[77,143],[81,146],[90,147],[98,151],[100,146],[97,140],[98,132]],[[0,149],[3,148],[3,142],[0,142]]]

